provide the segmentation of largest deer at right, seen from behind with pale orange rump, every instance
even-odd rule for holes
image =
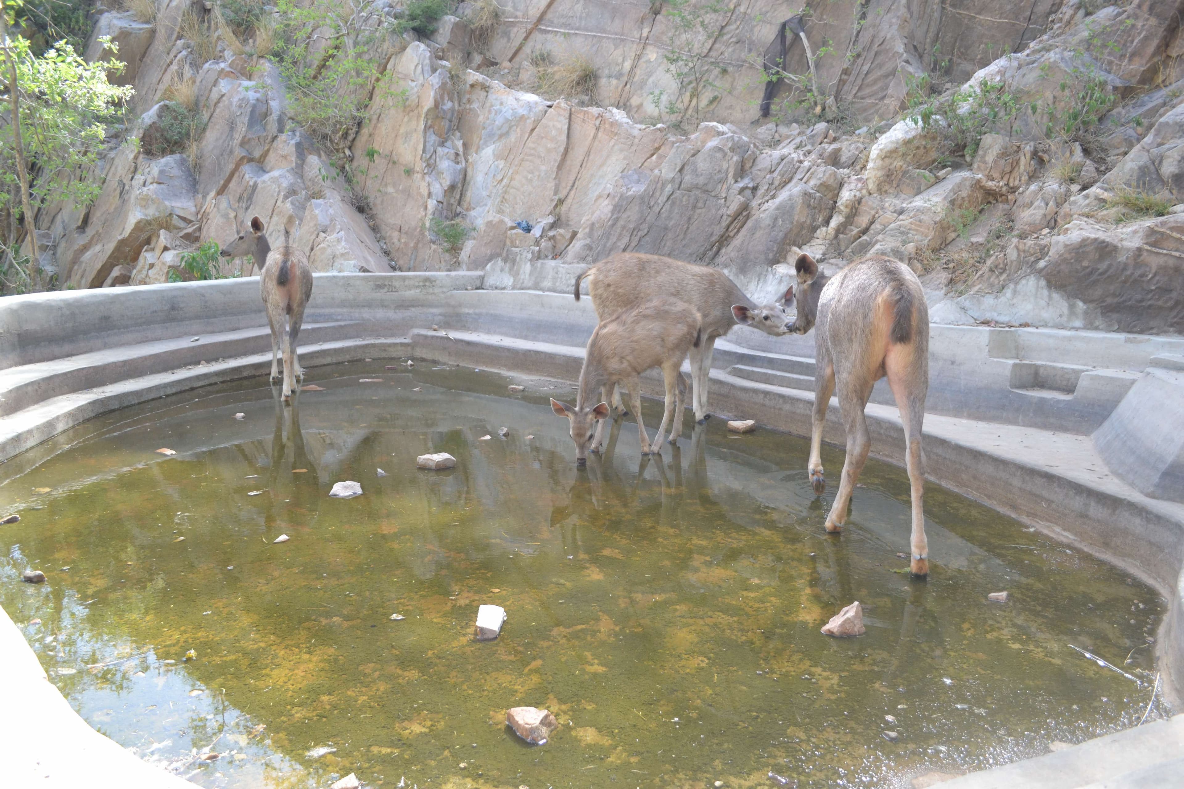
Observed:
[[[909,538],[915,576],[929,573],[925,539],[925,457],[921,422],[929,388],[929,311],[925,292],[908,266],[873,256],[856,260],[834,277],[818,272],[809,254],[798,256],[798,290],[793,332],[815,332],[815,405],[810,433],[810,481],[815,493],[826,490],[822,468],[822,429],[830,395],[838,389],[838,406],[847,428],[847,458],[838,496],[826,516],[826,531],[842,530],[847,507],[871,440],[863,409],[871,387],[887,376],[905,427],[905,461],[912,492],[913,529]]]

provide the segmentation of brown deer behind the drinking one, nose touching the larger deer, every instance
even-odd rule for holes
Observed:
[[[789,334],[793,323],[785,312],[793,287],[777,302],[757,306],[719,269],[658,254],[618,252],[592,265],[575,278],[577,302],[580,300],[581,282],[588,283],[592,305],[601,322],[659,296],[673,296],[702,316],[702,341],[690,351],[691,402],[700,425],[709,416],[707,383],[716,337],[735,325],[754,326],[779,337]],[[619,392],[613,405],[620,406]]]

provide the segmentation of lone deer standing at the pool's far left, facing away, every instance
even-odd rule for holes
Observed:
[[[288,244],[288,229],[284,228],[284,244],[275,250],[268,242],[263,220],[251,218],[247,231],[239,233],[230,246],[221,251],[224,258],[240,258],[250,254],[253,265],[260,265],[259,293],[268,312],[268,325],[271,326],[271,380],[279,377],[277,356],[281,345],[284,355],[284,402],[291,399],[296,390],[296,379],[304,380],[304,370],[296,356],[296,337],[304,322],[304,306],[313,295],[313,270],[303,252]],[[287,325],[285,325],[287,322]]]

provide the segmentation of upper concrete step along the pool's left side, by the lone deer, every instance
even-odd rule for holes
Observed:
[[[262,319],[260,315],[260,319]],[[356,336],[358,322],[305,323],[297,348]],[[271,331],[266,326],[239,329],[199,337],[173,337],[136,345],[121,345],[49,362],[12,367],[0,375],[0,416],[9,416],[46,399],[47,393],[82,392],[117,381],[148,375],[155,370],[185,368],[269,351]]]

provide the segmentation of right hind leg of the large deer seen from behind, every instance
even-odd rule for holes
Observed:
[[[921,451],[921,425],[925,421],[925,390],[928,377],[914,363],[916,349],[912,345],[890,345],[884,357],[888,386],[900,409],[905,427],[905,465],[912,498],[912,532],[909,535],[909,571],[914,576],[929,574],[929,543],[925,538],[925,454]]]

